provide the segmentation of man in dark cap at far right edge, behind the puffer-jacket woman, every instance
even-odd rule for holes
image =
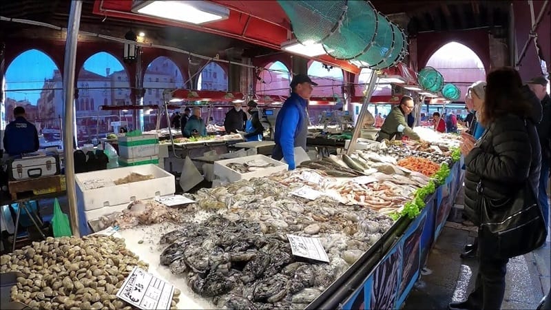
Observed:
[[[542,117],[536,125],[541,144],[541,172],[539,175],[539,204],[543,211],[545,225],[549,227],[549,202],[546,189],[549,185],[549,167],[551,164],[551,100],[546,92],[548,81],[543,76],[534,77],[526,82],[537,99],[541,101]]]

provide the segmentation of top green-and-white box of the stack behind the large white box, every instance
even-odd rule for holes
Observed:
[[[155,134],[118,137],[118,156],[123,158],[140,158],[158,156],[159,138]]]

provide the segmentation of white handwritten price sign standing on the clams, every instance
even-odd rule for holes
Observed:
[[[169,309],[174,286],[134,267],[116,297],[139,309]]]

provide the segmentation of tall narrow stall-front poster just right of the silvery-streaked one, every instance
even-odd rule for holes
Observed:
[[[420,214],[415,222],[413,222],[404,237],[401,238],[402,245],[402,280],[400,281],[397,302],[394,305],[395,309],[399,309],[400,305],[408,296],[409,291],[415,284],[419,276],[419,268],[421,262],[421,237],[426,222],[426,212]]]

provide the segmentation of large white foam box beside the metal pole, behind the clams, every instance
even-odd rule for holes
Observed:
[[[154,178],[121,185],[114,184],[114,180],[124,178],[132,172],[143,175],[152,174]],[[171,195],[176,191],[174,175],[154,164],[84,172],[75,174],[75,181],[78,207],[84,211],[122,205],[133,200]],[[92,188],[91,184],[94,183],[105,186]]]

